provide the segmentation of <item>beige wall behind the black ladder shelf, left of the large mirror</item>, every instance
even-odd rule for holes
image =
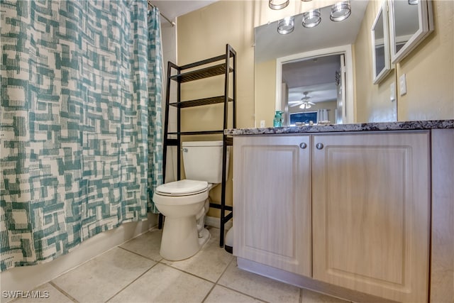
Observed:
[[[237,53],[237,127],[252,127],[254,116],[254,48],[252,11],[248,1],[219,1],[178,18],[178,64],[204,60],[225,53],[226,44]],[[183,84],[183,98],[211,97],[223,94],[221,77]],[[196,121],[182,119],[184,127],[206,129],[217,126],[222,106],[190,109],[189,115],[200,114]],[[186,117],[189,115],[185,115]],[[216,119],[212,117],[216,116]],[[222,116],[221,116],[222,117]],[[214,120],[214,121],[212,121]],[[222,127],[222,123],[221,123]],[[198,130],[198,129],[194,129]]]

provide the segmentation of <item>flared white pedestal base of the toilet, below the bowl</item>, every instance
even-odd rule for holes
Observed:
[[[185,218],[169,218],[166,216],[159,252],[161,257],[170,261],[192,257],[211,236],[206,229],[202,233],[204,233],[204,236],[199,238],[195,216]],[[199,239],[201,239],[201,242]]]

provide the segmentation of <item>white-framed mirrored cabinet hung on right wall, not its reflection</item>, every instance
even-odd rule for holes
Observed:
[[[402,60],[433,31],[431,0],[390,0],[391,62]]]

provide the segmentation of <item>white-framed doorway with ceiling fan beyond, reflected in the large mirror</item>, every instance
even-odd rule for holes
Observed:
[[[347,122],[346,109],[353,109],[345,106],[353,104],[353,86],[347,83],[353,83],[350,45],[279,57],[276,62],[276,109],[284,112],[284,125]],[[304,119],[307,114],[309,121]]]

